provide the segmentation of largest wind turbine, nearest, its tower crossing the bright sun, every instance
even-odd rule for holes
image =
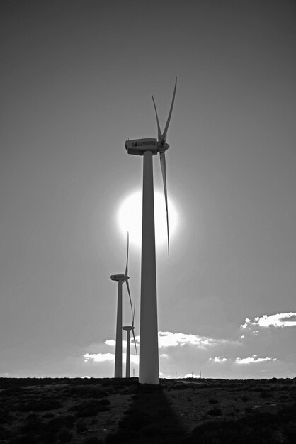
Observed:
[[[140,367],[139,382],[141,384],[159,384],[159,348],[157,328],[157,295],[156,295],[156,259],[155,259],[155,229],[154,229],[154,186],[153,159],[159,152],[162,179],[164,182],[164,199],[166,203],[166,224],[168,233],[169,252],[169,215],[166,191],[166,157],[169,148],[166,143],[166,133],[171,120],[173,102],[175,100],[177,79],[173,89],[173,99],[169,116],[161,133],[159,118],[156,111],[156,139],[127,140],[125,149],[128,154],[143,156],[143,200],[142,200],[142,262],[141,262],[141,307],[140,307]]]

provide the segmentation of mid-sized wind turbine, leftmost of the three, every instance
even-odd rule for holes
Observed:
[[[132,299],[130,297],[130,286],[127,275],[128,267],[128,246],[129,235],[127,233],[127,262],[125,265],[125,274],[112,274],[110,276],[112,281],[118,282],[118,298],[117,298],[117,320],[116,320],[116,344],[115,344],[115,378],[123,377],[123,282],[127,285],[127,292],[130,298],[130,306],[132,309]]]

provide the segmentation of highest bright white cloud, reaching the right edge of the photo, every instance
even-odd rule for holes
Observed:
[[[277,313],[268,316],[267,314],[263,314],[261,317],[256,317],[252,321],[249,318],[246,318],[245,323],[241,325],[242,329],[251,328],[254,331],[254,328],[262,327],[293,327],[296,326],[296,313]],[[256,330],[254,333],[260,333],[260,331]]]

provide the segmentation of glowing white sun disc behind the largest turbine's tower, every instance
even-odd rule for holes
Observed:
[[[169,208],[169,237],[170,240],[178,227],[178,213],[173,201],[168,198]],[[154,190],[154,218],[155,218],[155,243],[166,246],[166,204],[164,192]],[[142,242],[142,191],[132,192],[120,204],[117,215],[118,228],[125,237],[130,233],[130,243],[141,246]]]

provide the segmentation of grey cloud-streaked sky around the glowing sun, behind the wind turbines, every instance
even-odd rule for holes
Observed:
[[[113,377],[118,211],[142,189],[125,140],[156,138],[151,94],[164,128],[176,77],[160,375],[296,377],[295,18],[292,0],[1,0],[0,377]],[[130,242],[138,348],[140,259]]]

